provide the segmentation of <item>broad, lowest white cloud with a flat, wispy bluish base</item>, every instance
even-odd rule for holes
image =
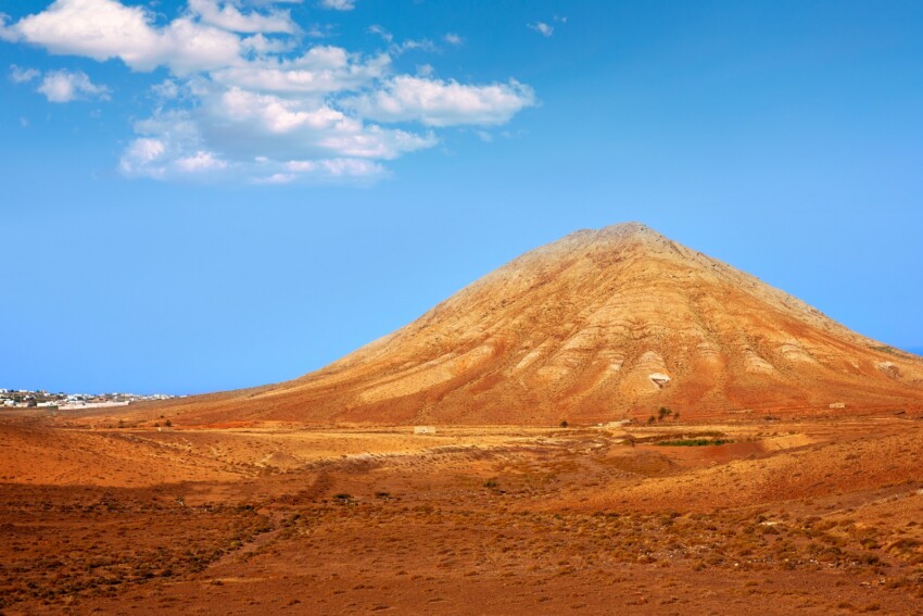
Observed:
[[[136,124],[139,139],[122,158],[125,175],[189,179],[193,172],[207,171],[208,177],[268,181],[275,174],[312,171],[286,166],[301,161],[318,165],[315,177],[372,179],[387,175],[378,161],[438,142],[430,134],[366,125],[311,100],[214,85],[192,89],[199,101],[194,109],[162,111]]]

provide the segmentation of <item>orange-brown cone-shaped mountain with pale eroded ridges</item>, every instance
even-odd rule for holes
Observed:
[[[547,425],[660,406],[686,418],[919,410],[923,359],[628,223],[532,250],[321,370],[170,408],[190,423]]]

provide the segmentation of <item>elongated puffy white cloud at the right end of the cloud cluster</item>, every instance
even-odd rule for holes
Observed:
[[[400,75],[349,105],[378,122],[421,122],[427,126],[492,125],[535,104],[532,88],[516,80],[466,86],[455,80]]]

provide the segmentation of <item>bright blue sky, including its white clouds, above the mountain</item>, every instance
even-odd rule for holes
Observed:
[[[0,13],[0,387],[295,377],[633,219],[923,349],[919,2]]]

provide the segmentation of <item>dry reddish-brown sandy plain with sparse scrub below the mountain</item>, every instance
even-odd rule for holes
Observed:
[[[923,422],[0,417],[3,614],[923,613]],[[721,445],[660,444],[684,437]]]

